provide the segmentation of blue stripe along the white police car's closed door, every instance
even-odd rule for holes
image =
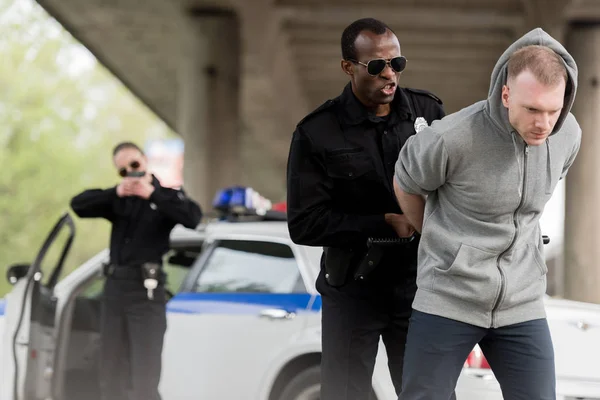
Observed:
[[[321,297],[311,305],[308,293],[178,293],[169,300],[167,312],[179,314],[257,314],[265,308],[288,312],[319,311]],[[317,305],[318,303],[318,305]],[[310,309],[308,306],[311,305]]]

